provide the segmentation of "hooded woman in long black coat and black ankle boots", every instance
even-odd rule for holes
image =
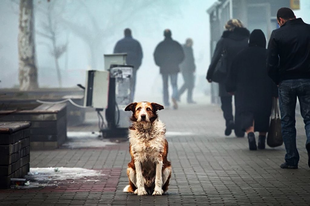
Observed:
[[[256,150],[254,131],[259,131],[258,148],[265,148],[266,133],[272,108],[272,97],[277,97],[277,86],[266,67],[266,38],[262,30],[250,35],[249,47],[237,54],[226,81],[227,92],[234,93],[236,110],[242,129],[248,134],[250,150]]]

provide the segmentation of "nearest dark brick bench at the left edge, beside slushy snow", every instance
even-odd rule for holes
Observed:
[[[0,122],[0,188],[29,172],[29,122]]]

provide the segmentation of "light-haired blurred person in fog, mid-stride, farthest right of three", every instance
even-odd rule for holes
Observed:
[[[196,65],[194,62],[194,55],[193,55],[193,40],[191,38],[186,39],[185,44],[183,45],[184,51],[184,61],[180,64],[180,69],[183,75],[184,84],[179,90],[179,97],[178,101],[180,100],[180,96],[185,92],[187,89],[187,103],[188,104],[196,104],[193,101],[193,89],[194,89],[194,80],[195,80],[195,69]]]

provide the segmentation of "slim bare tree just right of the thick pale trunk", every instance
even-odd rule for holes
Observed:
[[[57,19],[59,15],[63,12],[60,8],[55,8],[55,2],[57,1],[51,1],[47,3],[47,10],[43,11],[44,15],[46,15],[46,19],[44,19],[41,24],[43,31],[37,31],[37,33],[52,43],[52,48],[48,45],[51,51],[51,55],[54,57],[55,61],[55,67],[57,72],[57,79],[58,84],[60,87],[62,87],[62,80],[61,80],[61,73],[60,73],[60,67],[59,67],[59,58],[66,52],[67,50],[67,43],[63,45],[57,44],[57,34],[59,30],[59,20]],[[59,1],[58,1],[59,2]],[[61,3],[61,2],[60,2]],[[61,7],[64,8],[64,7]],[[55,13],[57,11],[57,13]],[[38,29],[37,29],[38,30]]]

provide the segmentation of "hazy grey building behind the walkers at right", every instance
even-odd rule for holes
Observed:
[[[210,19],[210,54],[213,55],[228,19],[240,19],[252,32],[261,29],[267,41],[272,30],[278,28],[277,11],[281,7],[300,9],[299,0],[219,0],[207,10]],[[218,84],[211,84],[211,102],[219,103]]]

